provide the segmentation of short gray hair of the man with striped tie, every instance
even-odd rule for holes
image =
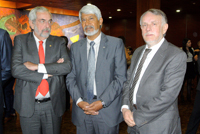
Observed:
[[[152,13],[154,15],[160,15],[160,16],[162,16],[162,25],[167,24],[167,16],[166,16],[166,14],[163,11],[161,11],[159,9],[149,9],[148,11],[146,11],[145,13],[143,13],[142,16],[140,17],[140,25],[142,25],[142,18],[143,18],[143,16],[146,13],[148,13],[148,12],[150,12],[150,13]]]

